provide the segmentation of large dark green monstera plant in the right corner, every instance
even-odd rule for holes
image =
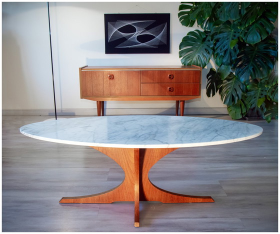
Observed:
[[[206,75],[208,97],[220,94],[229,115],[278,117],[277,44],[272,37],[277,2],[181,2],[179,21],[198,27],[182,38],[183,65],[216,69]]]

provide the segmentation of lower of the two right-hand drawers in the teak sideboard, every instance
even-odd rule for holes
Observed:
[[[141,83],[141,95],[200,95],[200,83]]]

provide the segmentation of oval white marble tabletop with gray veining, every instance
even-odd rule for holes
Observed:
[[[167,115],[114,115],[62,118],[24,125],[36,139],[101,147],[177,148],[246,140],[262,128],[239,121]]]

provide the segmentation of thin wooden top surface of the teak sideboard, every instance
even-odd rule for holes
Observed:
[[[201,70],[199,66],[83,66],[81,70]]]

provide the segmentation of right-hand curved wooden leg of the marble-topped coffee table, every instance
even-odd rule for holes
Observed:
[[[147,148],[140,149],[141,163],[141,196],[140,200],[160,201],[163,203],[181,203],[181,202],[214,202],[210,196],[192,196],[178,194],[161,189],[148,178],[150,168],[167,153],[172,152],[176,148]]]

